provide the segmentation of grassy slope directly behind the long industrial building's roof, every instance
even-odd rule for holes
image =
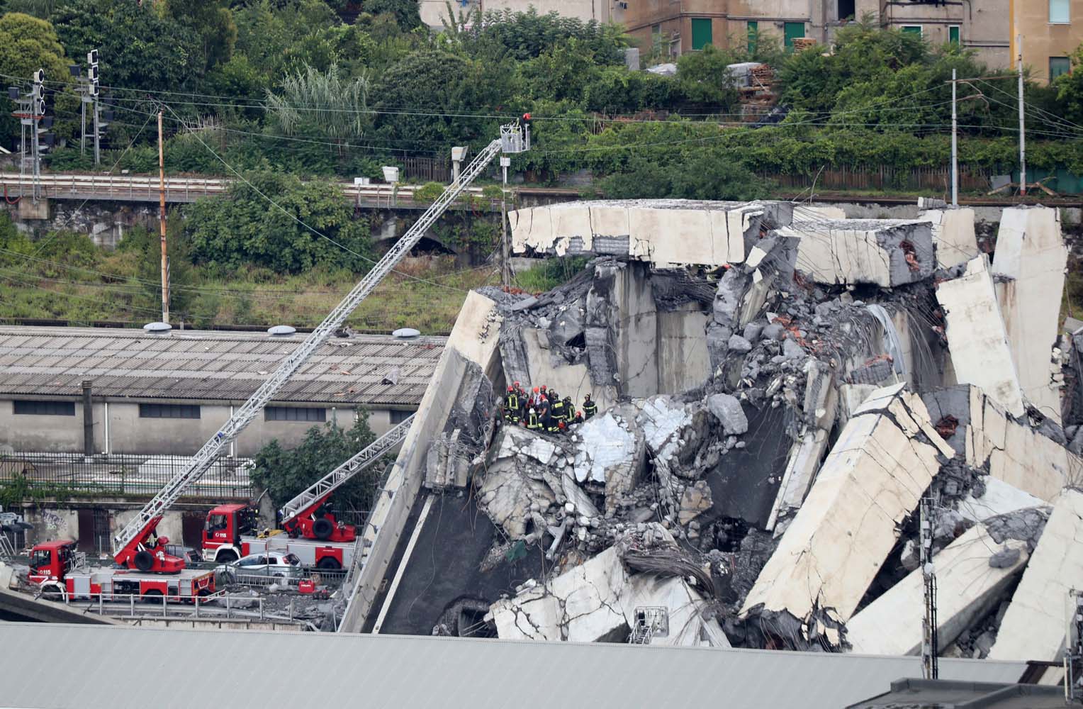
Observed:
[[[459,222],[446,223],[453,228]],[[498,233],[498,227],[484,223]],[[169,222],[168,243],[171,320],[174,325],[183,321],[186,327],[280,323],[311,327],[360,278],[334,261],[296,274],[276,273],[265,266],[193,265],[192,244],[177,218]],[[0,212],[0,320],[134,325],[158,320],[159,258],[158,234],[142,227],[128,230],[116,249],[107,249],[68,232],[31,242]],[[407,258],[357,308],[349,324],[363,331],[408,326],[427,334],[447,333],[466,291],[498,281],[493,267],[462,268],[454,256]]]

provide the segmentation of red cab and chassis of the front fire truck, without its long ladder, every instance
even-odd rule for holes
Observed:
[[[161,550],[169,542],[159,537]],[[165,552],[162,552],[165,553]],[[90,568],[87,555],[76,551],[69,540],[42,542],[30,552],[31,583],[41,588],[50,601],[97,600],[128,601],[138,596],[155,603],[191,602],[196,596],[214,593],[214,572],[181,569],[175,573],[154,573],[127,568]]]

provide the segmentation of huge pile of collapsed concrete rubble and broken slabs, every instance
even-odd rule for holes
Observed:
[[[520,382],[599,413],[560,435],[494,414],[440,478],[500,549],[546,559],[490,600],[496,634],[915,654],[930,498],[939,649],[1059,657],[1083,585],[1083,331],[1057,334],[1056,210],[1005,209],[991,261],[966,209],[626,201],[510,222],[519,255],[590,260],[540,295],[479,292],[498,348],[473,410]],[[473,421],[444,435],[477,450]]]

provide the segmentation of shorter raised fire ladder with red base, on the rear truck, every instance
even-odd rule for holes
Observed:
[[[352,542],[356,538],[353,525],[342,525],[335,519],[334,513],[326,512],[319,517],[314,513],[319,510],[327,498],[337,489],[349,482],[355,475],[367,468],[380,456],[401,443],[409,433],[414,423],[414,414],[396,424],[388,433],[366,446],[342,465],[322,477],[309,489],[287,502],[278,511],[279,524],[290,537],[306,537],[331,542]]]

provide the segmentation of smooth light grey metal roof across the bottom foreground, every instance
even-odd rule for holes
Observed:
[[[917,657],[347,633],[0,623],[11,707],[801,707],[921,675]],[[1023,662],[940,660],[1015,682]]]

